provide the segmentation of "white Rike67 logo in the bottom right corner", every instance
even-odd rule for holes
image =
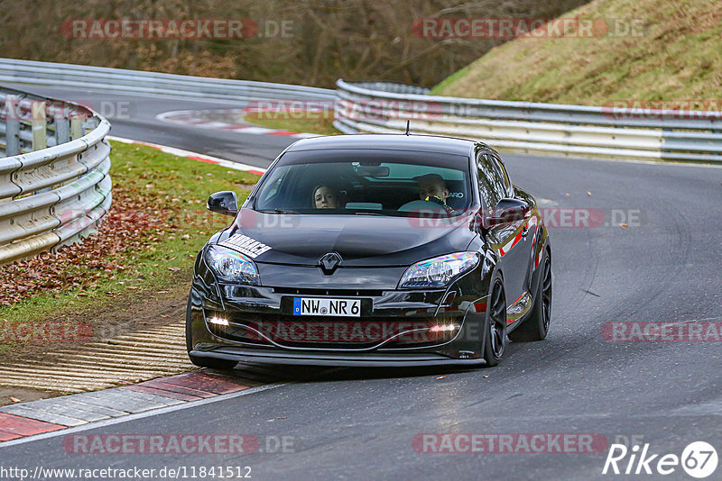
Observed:
[[[717,449],[705,441],[690,443],[681,456],[653,453],[649,443],[641,449],[639,445],[628,449],[624,444],[612,444],[602,474],[667,476],[681,467],[688,475],[701,479],[717,470],[717,462]]]

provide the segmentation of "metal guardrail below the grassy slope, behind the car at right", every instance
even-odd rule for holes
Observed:
[[[412,133],[479,139],[498,150],[722,162],[719,112],[635,113],[613,107],[432,96],[419,87],[350,84],[342,79],[337,86],[334,125],[344,133],[405,132],[411,120]]]

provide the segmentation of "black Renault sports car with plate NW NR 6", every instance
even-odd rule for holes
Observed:
[[[495,366],[546,337],[551,246],[495,150],[419,135],[293,143],[199,252],[190,360]]]

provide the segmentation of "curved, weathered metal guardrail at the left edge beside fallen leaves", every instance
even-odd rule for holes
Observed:
[[[112,202],[109,131],[80,105],[0,89],[0,264],[97,230]]]

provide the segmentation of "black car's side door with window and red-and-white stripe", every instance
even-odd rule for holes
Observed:
[[[499,160],[489,152],[482,153],[477,158],[479,189],[486,191],[480,194],[486,195],[493,206],[504,197],[514,196],[512,186],[504,176],[505,170],[502,170],[497,162]],[[491,226],[489,230],[490,241],[501,258],[507,305],[514,304],[526,291],[524,287],[532,239],[524,230],[526,221],[515,219]]]

